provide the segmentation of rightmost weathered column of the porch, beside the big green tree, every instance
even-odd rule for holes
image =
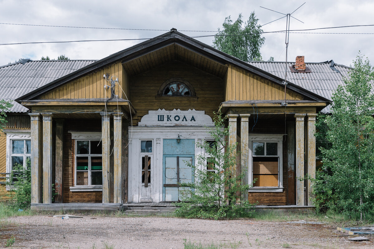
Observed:
[[[308,114],[308,159],[307,159],[307,171],[310,178],[316,178],[316,116],[317,114]],[[312,194],[312,181],[308,179],[307,184],[307,197],[308,197],[308,206],[313,205],[313,198],[315,197]]]

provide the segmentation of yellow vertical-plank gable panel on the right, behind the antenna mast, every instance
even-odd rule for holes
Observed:
[[[284,100],[284,87],[264,80],[233,65],[229,65],[225,79],[225,101]],[[303,100],[303,96],[286,90],[286,99]]]

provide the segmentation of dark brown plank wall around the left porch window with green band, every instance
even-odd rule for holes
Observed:
[[[84,130],[82,130],[84,127]],[[68,130],[74,131],[100,131],[101,119],[92,120],[76,120],[66,119],[64,122],[64,175],[63,175],[63,197],[64,203],[70,202],[102,202],[101,191],[89,192],[71,192],[70,187],[74,186],[74,140],[71,139],[71,133]]]

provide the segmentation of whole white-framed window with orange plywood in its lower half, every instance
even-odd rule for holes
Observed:
[[[249,135],[249,191],[283,191],[282,174],[283,135]]]

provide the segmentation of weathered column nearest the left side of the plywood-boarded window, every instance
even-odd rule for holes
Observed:
[[[241,173],[244,173],[243,177],[243,185],[248,184],[248,153],[249,153],[249,141],[248,141],[248,119],[251,114],[240,114],[240,166],[241,166]],[[242,193],[243,199],[248,200],[248,191]]]

